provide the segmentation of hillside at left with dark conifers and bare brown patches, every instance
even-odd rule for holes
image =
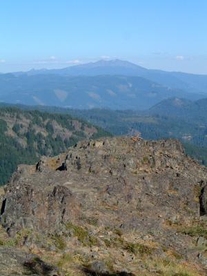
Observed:
[[[58,155],[77,141],[109,136],[101,128],[70,115],[0,108],[0,184],[18,164],[33,164],[41,155]]]

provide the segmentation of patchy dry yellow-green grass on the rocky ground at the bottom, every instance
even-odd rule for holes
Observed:
[[[198,228],[191,228],[188,226],[186,232],[188,235],[206,235],[204,230],[205,223],[199,224]],[[73,241],[69,242],[61,236],[52,236],[48,238],[52,242],[55,242],[59,250],[51,251],[47,248],[41,248],[41,251],[37,252],[38,255],[44,261],[49,264],[56,264],[63,271],[66,276],[83,276],[83,270],[81,270],[86,264],[92,262],[90,257],[91,246],[97,245],[97,239],[91,240],[90,232],[87,228],[82,226],[68,223],[68,230],[72,230],[72,233],[77,239],[79,239],[80,247],[79,250],[75,249]],[[174,227],[180,228],[180,225]],[[197,227],[197,226],[195,226]],[[108,228],[106,228],[108,230]],[[105,230],[106,230],[105,229]],[[192,230],[193,229],[193,230]],[[21,239],[26,235],[30,235],[29,230],[23,230],[15,239],[11,239],[6,235],[6,231],[0,226],[0,246],[19,246]],[[112,238],[104,237],[103,242],[106,244],[106,253],[98,251],[99,259],[103,260],[108,267],[108,270],[112,272],[112,275],[116,273],[117,262],[121,268],[126,268],[135,275],[140,276],[204,276],[201,273],[199,267],[182,260],[182,256],[179,252],[165,248],[166,258],[155,257],[155,248],[159,248],[161,245],[153,241],[143,241],[134,239],[133,233],[124,236],[121,230],[115,228],[112,229]],[[126,239],[125,239],[126,238]],[[75,239],[77,241],[77,239]],[[21,246],[21,245],[20,245]],[[88,248],[87,248],[88,246]],[[104,246],[104,245],[103,245]],[[105,247],[105,248],[106,248]],[[73,248],[73,249],[72,249]],[[37,248],[36,248],[37,249]],[[100,247],[101,249],[101,247]],[[101,251],[101,250],[100,250]],[[123,254],[124,252],[124,254]],[[135,258],[129,263],[128,257],[133,254]],[[138,262],[139,261],[139,262]],[[140,265],[141,264],[141,265]]]

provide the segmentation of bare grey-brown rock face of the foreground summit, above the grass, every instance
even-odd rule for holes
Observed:
[[[6,186],[1,224],[11,235],[21,228],[51,232],[85,217],[126,232],[163,232],[163,219],[199,217],[195,191],[206,179],[206,168],[186,157],[176,140],[80,142],[18,168]]]

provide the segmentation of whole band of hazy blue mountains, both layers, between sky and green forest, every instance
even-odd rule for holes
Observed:
[[[207,95],[207,76],[150,70],[119,59],[0,75],[0,101],[71,108],[146,109]]]

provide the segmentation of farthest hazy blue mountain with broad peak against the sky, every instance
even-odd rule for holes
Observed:
[[[186,92],[201,93],[207,95],[207,75],[194,75],[184,72],[166,72],[163,70],[146,69],[129,61],[119,59],[111,61],[97,61],[63,69],[30,70],[28,72],[16,72],[15,75],[63,75],[63,76],[97,76],[97,75],[125,75],[144,77],[150,81],[160,83],[171,89],[181,89]]]

